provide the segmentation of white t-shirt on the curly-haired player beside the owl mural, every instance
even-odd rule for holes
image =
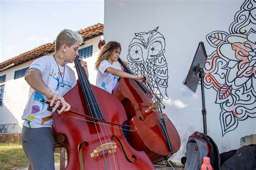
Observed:
[[[97,70],[96,86],[108,91],[109,93],[112,93],[113,88],[117,85],[118,77],[105,72],[107,67],[113,68],[109,61],[103,60],[99,63],[99,67]]]

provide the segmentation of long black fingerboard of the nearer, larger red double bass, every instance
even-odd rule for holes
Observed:
[[[87,107],[87,110],[89,111],[90,116],[93,118],[105,120],[102,114],[102,111],[100,110],[95,94],[93,93],[91,84],[84,72],[83,67],[80,65],[78,56],[76,56],[76,59],[75,59],[75,66],[77,70],[78,80],[82,88],[84,100],[86,102],[86,107]]]

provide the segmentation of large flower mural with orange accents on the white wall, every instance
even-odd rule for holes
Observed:
[[[222,134],[239,121],[256,117],[256,2],[245,1],[235,14],[230,33],[214,31],[206,36],[216,48],[205,64],[205,87],[217,91]]]

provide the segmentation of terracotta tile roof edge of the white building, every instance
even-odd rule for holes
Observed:
[[[83,40],[86,41],[86,40],[92,39],[94,37],[103,35],[103,30],[104,30],[104,25],[98,23],[96,25],[86,27],[85,29],[80,29],[77,32],[79,34],[81,34]],[[12,63],[14,63],[13,66],[17,66],[24,62],[39,58],[40,56],[48,55],[49,53],[54,52],[54,47],[55,47],[55,42],[51,42],[51,43],[47,43],[47,44],[41,45],[39,47],[36,47],[34,49],[31,49],[28,52],[19,54],[18,56],[15,56],[14,58],[11,58],[9,60],[1,62],[0,63],[0,71],[10,68],[8,66],[11,65]],[[11,66],[11,67],[13,67],[13,66]]]

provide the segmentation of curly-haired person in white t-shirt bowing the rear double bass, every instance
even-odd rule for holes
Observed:
[[[118,61],[121,50],[122,48],[119,42],[107,42],[100,48],[99,56],[95,63],[95,69],[97,70],[96,86],[109,93],[112,93],[112,90],[116,87],[118,77],[134,79],[139,82],[149,82],[147,77],[132,75],[113,68],[112,65],[115,61]]]

